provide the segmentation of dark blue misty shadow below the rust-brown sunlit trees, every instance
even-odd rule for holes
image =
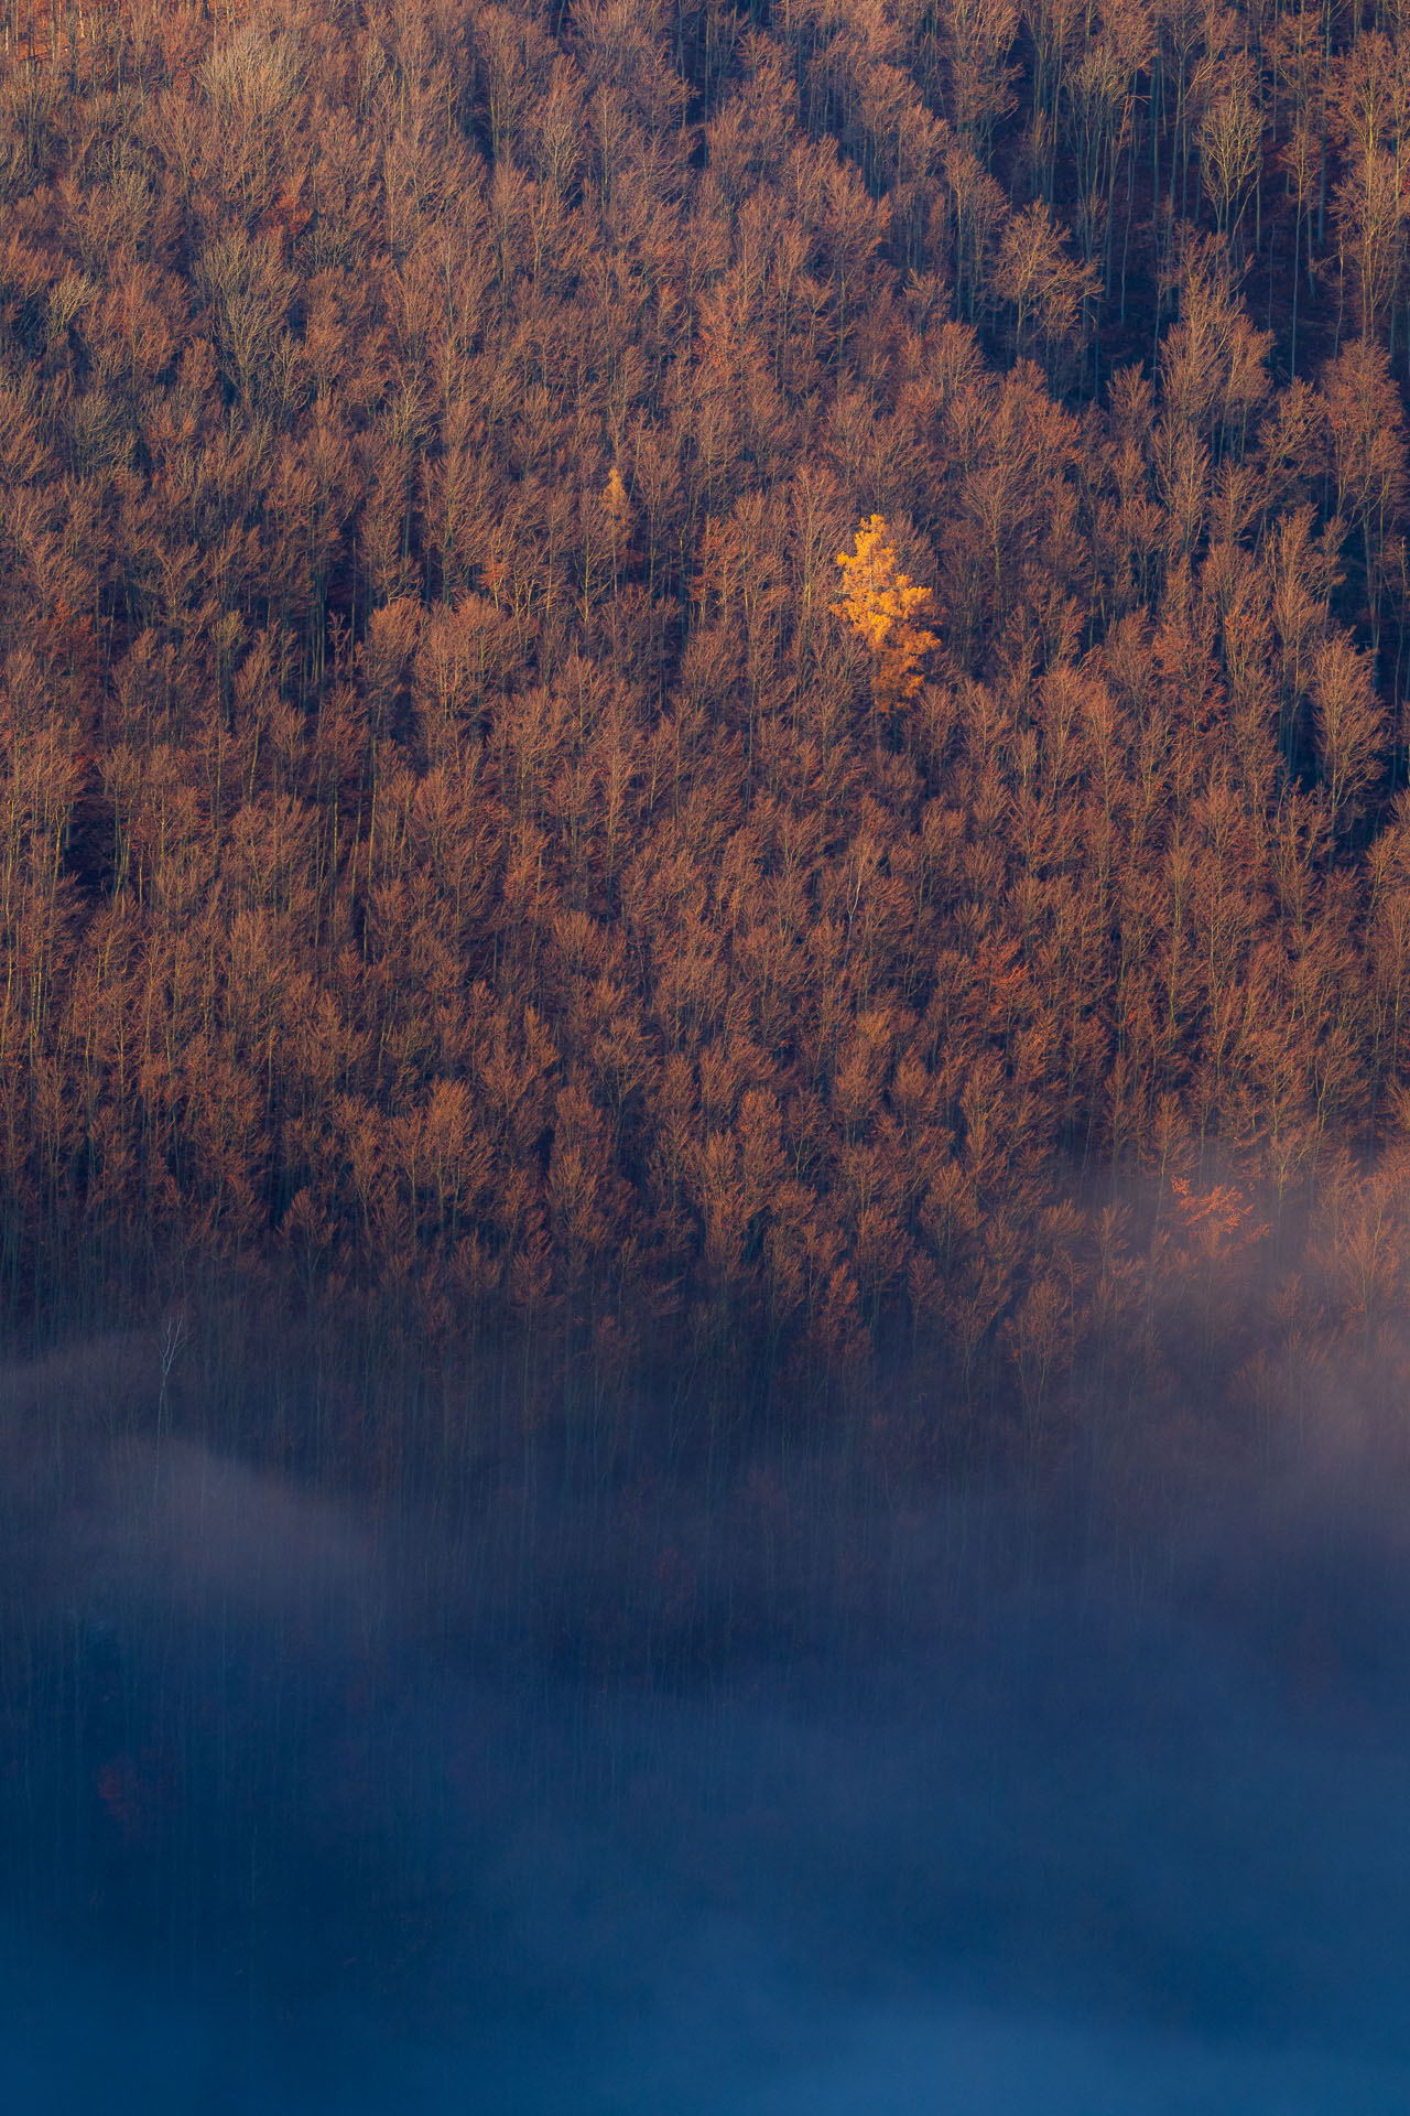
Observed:
[[[1395,1481],[11,1477],[0,2105],[1391,2110]],[[552,1492],[552,1500],[543,1496]]]

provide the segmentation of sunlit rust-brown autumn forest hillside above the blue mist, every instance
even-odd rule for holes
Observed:
[[[0,28],[13,1327],[1378,1339],[1391,0]]]

